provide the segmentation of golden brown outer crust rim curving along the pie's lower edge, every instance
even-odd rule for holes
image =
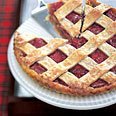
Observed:
[[[69,94],[69,95],[90,95],[90,94],[98,94],[102,92],[106,92],[107,90],[116,88],[116,82],[108,85],[108,86],[103,86],[100,88],[92,88],[92,87],[87,87],[87,88],[79,88],[79,87],[67,87],[63,86],[61,84],[55,83],[53,81],[50,81],[43,77],[41,74],[37,74],[35,71],[31,70],[29,67],[27,67],[24,64],[24,61],[22,60],[22,52],[17,48],[17,43],[16,43],[16,38],[14,42],[14,54],[16,56],[17,61],[23,68],[23,70],[29,74],[30,77],[38,80],[42,86],[45,86],[47,88],[50,88],[52,90],[56,90],[57,92],[64,93],[64,94]]]

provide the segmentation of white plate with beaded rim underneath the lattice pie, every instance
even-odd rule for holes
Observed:
[[[18,30],[20,32],[28,32],[38,36],[44,35],[48,38],[51,38],[52,35],[57,36],[51,25],[43,20],[47,13],[46,9],[43,8],[40,12],[41,13],[39,15],[37,13],[34,14],[33,17],[21,25]],[[42,20],[44,23],[42,23]],[[10,70],[18,83],[36,98],[54,106],[76,110],[97,109],[116,103],[116,90],[99,95],[74,97],[59,94],[40,86],[37,81],[30,78],[21,69],[16,61],[13,51],[13,39],[14,38],[12,37],[8,47],[8,63]]]

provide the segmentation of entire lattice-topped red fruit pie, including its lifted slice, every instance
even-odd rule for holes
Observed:
[[[16,32],[17,61],[40,84],[60,93],[90,95],[116,88],[116,9],[87,0],[48,5],[49,20],[63,38]]]

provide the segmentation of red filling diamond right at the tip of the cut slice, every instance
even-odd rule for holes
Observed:
[[[81,38],[73,38],[70,40],[70,44],[72,46],[74,46],[75,48],[80,48],[81,46],[83,46],[85,43],[87,42],[87,40],[84,37]]]

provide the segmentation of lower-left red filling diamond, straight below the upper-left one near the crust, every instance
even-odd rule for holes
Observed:
[[[36,71],[36,72],[39,73],[39,74],[41,74],[41,73],[47,71],[46,68],[44,68],[43,66],[41,66],[41,65],[38,64],[37,62],[34,63],[34,64],[32,64],[32,65],[30,66],[30,68],[31,68],[32,70]]]

